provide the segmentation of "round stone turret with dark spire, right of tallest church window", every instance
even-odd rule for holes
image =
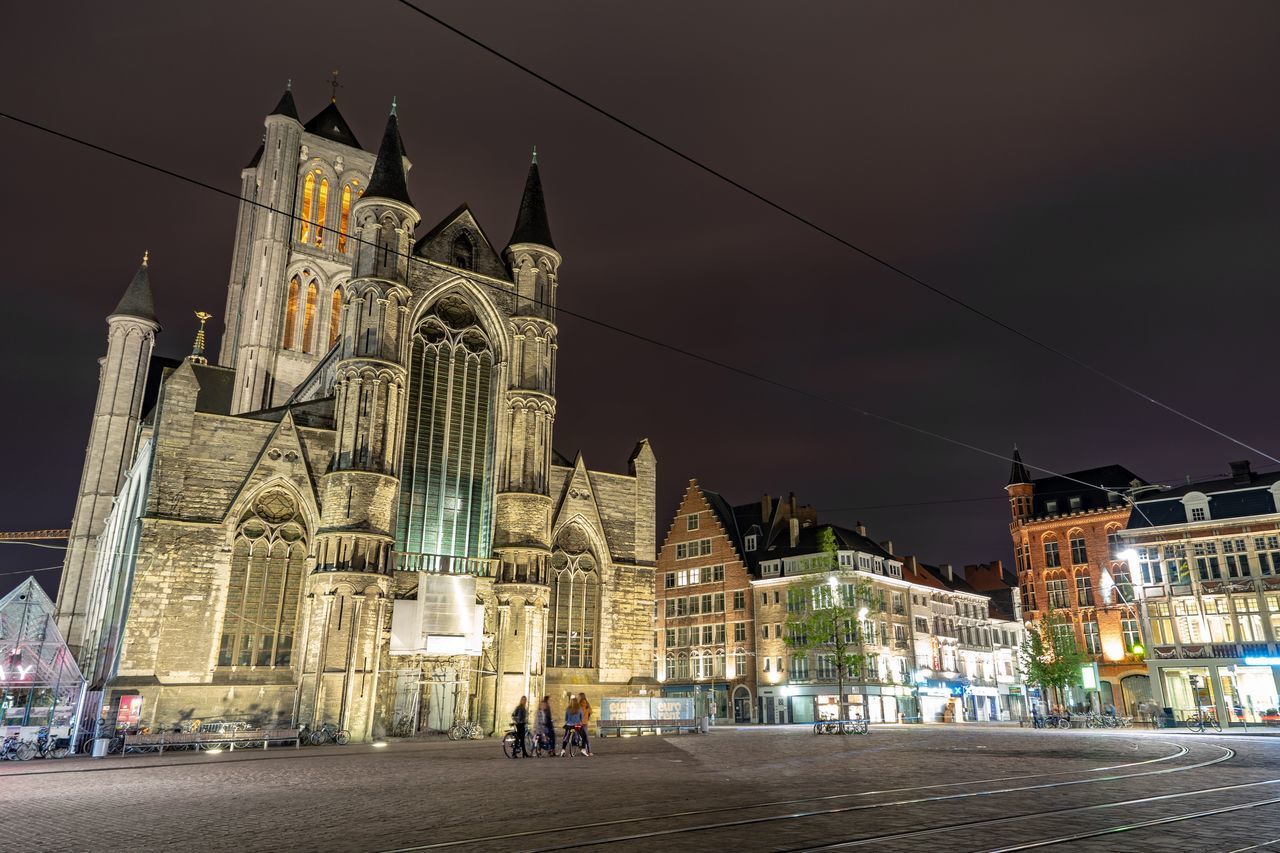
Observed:
[[[556,420],[556,275],[561,255],[552,241],[534,151],[516,228],[503,254],[516,283],[509,318],[512,356],[502,398],[506,447],[498,448],[494,556],[498,578],[495,643],[498,708],[543,689],[548,581],[550,575],[552,426]]]

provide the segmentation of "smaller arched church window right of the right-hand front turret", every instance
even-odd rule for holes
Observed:
[[[552,548],[552,598],[547,610],[547,666],[596,665],[595,630],[600,621],[600,573],[586,534],[564,528]]]

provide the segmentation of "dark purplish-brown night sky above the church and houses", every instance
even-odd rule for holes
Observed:
[[[754,190],[1280,456],[1275,3],[431,3]],[[1120,8],[1123,6],[1123,8]],[[1071,471],[1265,460],[968,315],[392,0],[20,4],[0,109],[232,192],[293,79],[375,147],[398,99],[422,228],[500,248],[536,145],[562,307]],[[14,37],[18,36],[18,37]],[[70,523],[104,318],[143,250],[180,356],[221,336],[236,202],[0,120],[0,529]],[[562,316],[557,447],[796,492],[932,562],[1011,560],[1000,460]],[[987,498],[987,500],[974,500]],[[891,506],[933,501],[925,506]],[[872,508],[874,507],[874,508]],[[61,552],[0,546],[0,571]],[[0,575],[0,590],[22,574]],[[38,575],[56,589],[56,571]]]

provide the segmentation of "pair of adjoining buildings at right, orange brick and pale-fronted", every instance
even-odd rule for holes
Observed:
[[[1280,722],[1280,473],[1230,469],[1174,488],[1120,465],[1033,479],[1014,448],[1023,610],[1065,617],[1100,676],[1060,699]]]

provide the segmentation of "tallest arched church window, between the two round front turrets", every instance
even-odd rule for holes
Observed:
[[[413,333],[397,551],[489,556],[493,365],[458,296],[436,302]]]

